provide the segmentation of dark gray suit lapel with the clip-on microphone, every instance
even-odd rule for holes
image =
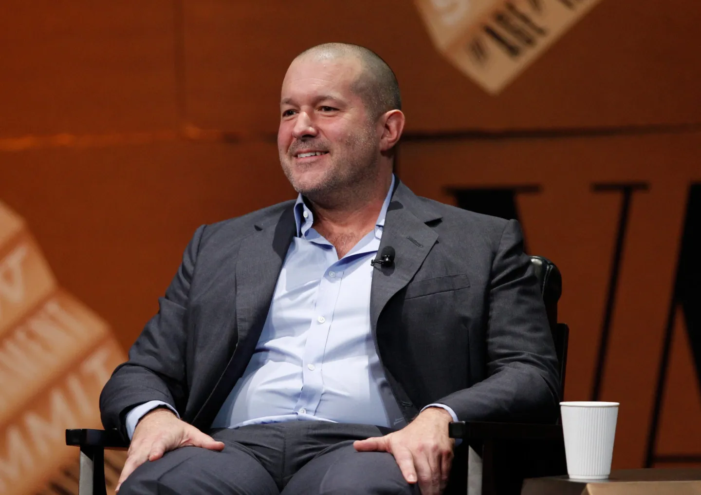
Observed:
[[[385,246],[395,248],[395,261],[393,266],[376,269],[372,275],[370,324],[375,339],[377,320],[383,308],[414,277],[438,239],[435,231],[426,225],[435,219],[440,219],[440,215],[425,208],[404,184],[397,184],[387,209],[379,248],[379,252]]]

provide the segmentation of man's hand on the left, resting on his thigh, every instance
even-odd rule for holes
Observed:
[[[129,453],[119,476],[115,491],[127,477],[146,461],[161,459],[165,452],[180,447],[202,447],[222,450],[224,443],[202,433],[189,423],[178,419],[170,409],[158,407],[144,414],[134,430]]]

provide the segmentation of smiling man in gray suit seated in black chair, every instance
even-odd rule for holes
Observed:
[[[297,201],[201,226],[102,392],[104,426],[132,440],[122,495],[439,494],[450,421],[554,417],[519,227],[394,177],[391,69],[328,43],[281,96]]]

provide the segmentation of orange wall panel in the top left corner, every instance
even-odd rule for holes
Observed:
[[[173,128],[172,3],[6,0],[0,137]]]

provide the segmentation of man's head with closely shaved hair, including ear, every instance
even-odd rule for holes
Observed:
[[[367,48],[326,43],[287,69],[280,163],[294,189],[312,200],[358,194],[389,176],[403,128],[397,79]]]

